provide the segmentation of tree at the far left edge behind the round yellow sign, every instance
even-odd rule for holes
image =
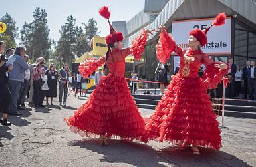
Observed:
[[[18,28],[16,27],[16,21],[11,17],[9,13],[5,13],[1,18],[1,22],[6,24],[6,31],[3,33],[2,41],[5,41],[6,47],[15,47],[15,39],[18,37]]]

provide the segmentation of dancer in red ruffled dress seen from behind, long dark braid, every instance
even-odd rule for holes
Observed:
[[[108,7],[99,10],[100,15],[109,19]],[[125,57],[129,54],[136,59],[144,51],[149,30],[143,30],[131,47],[122,49],[122,33],[116,32],[110,22],[110,35],[105,40],[108,44],[106,55],[98,60],[86,59],[80,64],[79,71],[84,76],[92,74],[98,67],[108,66],[110,73],[100,79],[100,83],[74,116],[65,121],[72,132],[80,136],[100,135],[100,142],[106,145],[106,136],[120,136],[128,140],[147,142],[146,124],[138,111],[124,78]]]

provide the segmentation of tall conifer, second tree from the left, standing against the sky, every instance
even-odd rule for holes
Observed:
[[[51,49],[51,40],[49,39],[49,27],[47,24],[47,13],[45,9],[35,8],[33,11],[34,20],[31,26],[31,41],[29,41],[29,49],[33,60],[38,57],[49,58],[49,49]],[[27,31],[29,31],[29,26]],[[25,34],[24,34],[25,35]],[[27,34],[29,36],[29,33]],[[27,36],[25,35],[25,36]]]

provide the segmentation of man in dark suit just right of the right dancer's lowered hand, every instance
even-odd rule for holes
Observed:
[[[237,72],[237,66],[234,64],[234,59],[229,58],[229,71],[227,77],[229,78],[229,84],[227,86],[227,98],[234,98],[235,94],[235,73]]]

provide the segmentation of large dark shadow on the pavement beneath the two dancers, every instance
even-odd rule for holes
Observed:
[[[96,139],[68,142],[68,146],[80,146],[104,155],[101,162],[126,163],[133,166],[249,166],[232,154],[199,148],[201,154],[194,155],[191,148],[179,150],[167,147],[161,150],[136,142],[107,139],[108,146],[101,146]]]

